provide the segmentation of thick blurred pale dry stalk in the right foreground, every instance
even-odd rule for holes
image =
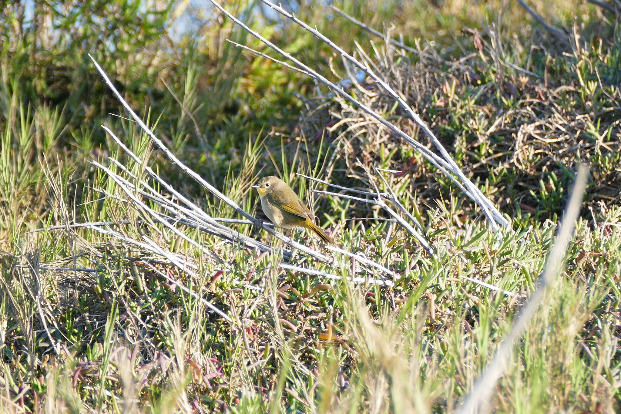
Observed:
[[[507,361],[509,361],[509,356],[515,341],[525,330],[528,323],[535,315],[535,312],[537,312],[537,308],[543,302],[543,299],[545,299],[546,288],[550,286],[554,277],[560,272],[561,263],[563,262],[565,251],[567,250],[567,246],[574,232],[576,219],[580,211],[582,195],[586,187],[586,173],[586,166],[581,165],[578,168],[571,198],[565,210],[561,228],[556,236],[556,241],[546,261],[539,286],[531,295],[530,300],[528,300],[527,305],[520,313],[509,334],[502,340],[502,343],[496,351],[496,355],[494,355],[494,358],[488,364],[483,375],[474,384],[469,394],[466,395],[463,404],[457,411],[459,414],[486,413],[490,411],[491,407],[489,407],[489,401],[491,395],[496,389],[497,380],[502,376],[507,367]]]

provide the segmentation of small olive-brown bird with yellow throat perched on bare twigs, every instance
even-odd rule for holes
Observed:
[[[311,210],[286,182],[274,176],[263,177],[252,188],[256,188],[259,193],[261,209],[274,225],[284,228],[306,227],[324,243],[334,244],[334,239],[315,224]]]

